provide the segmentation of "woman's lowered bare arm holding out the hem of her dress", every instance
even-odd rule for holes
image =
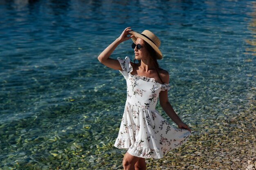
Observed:
[[[163,76],[163,80],[164,80],[164,83],[168,83],[169,82],[169,74],[166,76]],[[175,122],[178,125],[178,127],[180,129],[187,129],[191,132],[191,130],[189,129],[189,126],[186,125],[185,123],[183,123],[182,120],[180,120],[179,116],[173,110],[173,107],[171,106],[170,102],[168,101],[167,90],[160,92],[159,102],[160,102],[161,107],[166,112],[166,114],[173,120],[173,122]]]

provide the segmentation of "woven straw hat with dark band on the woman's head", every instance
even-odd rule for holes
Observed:
[[[161,51],[158,49],[158,47],[160,46],[161,42],[160,40],[157,38],[157,36],[155,34],[153,34],[152,32],[148,31],[148,30],[144,30],[141,34],[140,33],[136,33],[134,31],[129,32],[130,35],[134,35],[134,37],[132,37],[132,41],[135,43],[137,38],[141,38],[144,41],[146,41],[152,48],[154,48],[156,54],[157,54],[157,59],[162,59],[162,53]]]

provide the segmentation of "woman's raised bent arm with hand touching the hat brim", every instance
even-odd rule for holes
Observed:
[[[130,27],[125,28],[123,33],[114,42],[112,42],[105,50],[103,50],[101,54],[99,54],[98,60],[102,64],[115,70],[122,70],[119,61],[117,59],[111,59],[109,58],[109,56],[121,42],[126,41],[133,36],[131,35],[130,37],[127,37],[130,31],[132,31]]]

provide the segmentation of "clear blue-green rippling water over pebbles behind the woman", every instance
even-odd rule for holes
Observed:
[[[112,145],[126,84],[97,56],[127,26],[161,40],[169,101],[194,134],[202,118],[236,116],[255,100],[255,11],[246,0],[1,0],[0,168],[90,169],[104,154],[121,163]],[[111,58],[133,59],[130,44]]]

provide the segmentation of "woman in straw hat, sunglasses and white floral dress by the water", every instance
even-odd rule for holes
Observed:
[[[130,38],[138,64],[135,60],[130,62],[129,57],[109,58],[121,42]],[[128,149],[123,159],[124,170],[146,170],[145,158],[162,158],[169,150],[186,142],[191,133],[168,102],[169,74],[157,63],[157,59],[162,59],[159,45],[159,39],[152,32],[145,30],[139,34],[128,27],[98,57],[102,64],[119,70],[127,83],[126,106],[114,144],[117,148]],[[161,107],[178,129],[155,110],[158,97]]]

